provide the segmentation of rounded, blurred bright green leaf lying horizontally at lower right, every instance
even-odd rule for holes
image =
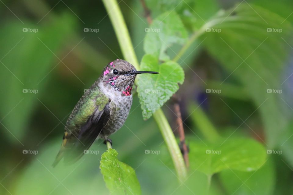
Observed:
[[[257,141],[230,138],[217,144],[190,142],[190,168],[207,175],[225,169],[252,171],[266,161],[266,150]]]

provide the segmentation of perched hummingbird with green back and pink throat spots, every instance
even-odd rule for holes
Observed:
[[[66,125],[55,167],[64,158],[67,164],[77,161],[96,139],[110,142],[110,134],[124,124],[132,105],[132,89],[137,71],[129,62],[117,59],[107,64],[98,80],[85,90],[72,110]]]

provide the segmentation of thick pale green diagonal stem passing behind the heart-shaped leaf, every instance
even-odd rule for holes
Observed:
[[[125,60],[132,63],[136,69],[139,69],[139,63],[134,53],[132,42],[117,1],[103,0],[103,3],[107,9],[107,12],[109,13],[110,20],[114,27]],[[175,136],[172,132],[172,129],[161,109],[158,109],[154,113],[154,118],[167,144],[179,180],[184,181],[187,176],[187,170],[184,164],[183,156],[175,140]]]

